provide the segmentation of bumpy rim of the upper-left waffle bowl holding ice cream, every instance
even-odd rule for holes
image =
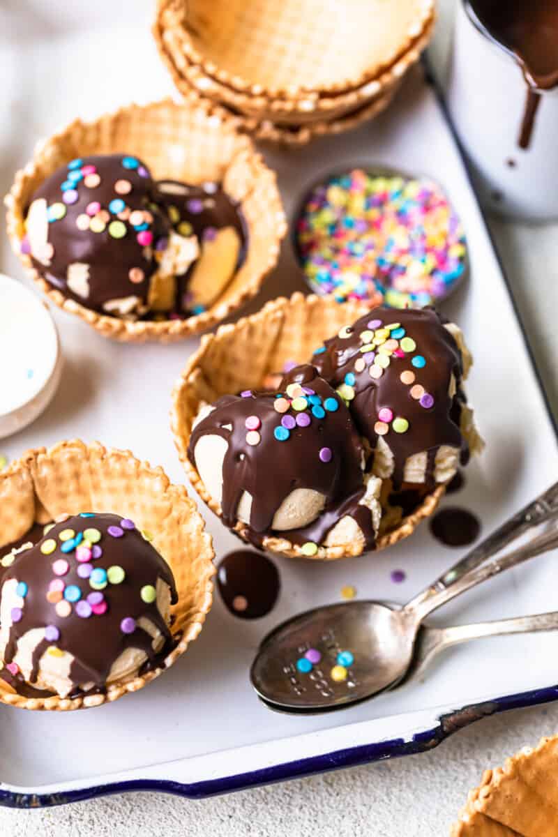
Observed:
[[[79,302],[64,295],[61,290],[49,285],[49,282],[39,275],[38,270],[33,267],[30,257],[21,253],[19,231],[23,227],[24,219],[23,194],[28,187],[28,183],[33,182],[33,179],[37,178],[38,168],[40,168],[41,161],[49,147],[59,144],[64,140],[64,137],[70,136],[73,132],[79,131],[81,128],[91,128],[100,124],[105,119],[117,120],[120,116],[133,114],[138,110],[149,111],[150,109],[164,108],[165,106],[171,106],[177,109],[185,108],[192,111],[199,110],[203,118],[207,120],[213,116],[217,116],[219,121],[223,122],[225,126],[238,136],[239,141],[245,140],[245,150],[248,152],[248,157],[253,168],[257,171],[257,178],[267,177],[269,180],[267,184],[271,197],[269,213],[273,213],[274,217],[277,218],[277,222],[274,223],[274,236],[269,236],[266,264],[259,265],[258,270],[253,270],[253,274],[248,277],[243,287],[238,289],[233,299],[227,300],[226,302],[218,299],[207,311],[189,316],[184,320],[168,319],[161,322],[149,320],[128,321],[119,317],[110,316],[109,314],[102,314],[99,311],[93,311],[81,305]],[[252,300],[254,296],[258,295],[266,276],[269,275],[277,264],[281,242],[287,233],[288,226],[279,187],[277,186],[276,174],[264,162],[259,151],[256,151],[250,137],[245,136],[239,131],[239,127],[239,122],[234,116],[207,99],[203,99],[200,96],[192,96],[186,97],[181,102],[176,102],[170,96],[167,96],[164,99],[150,101],[145,105],[137,105],[131,102],[128,105],[122,105],[116,110],[103,113],[90,121],[76,119],[50,135],[43,142],[38,143],[38,146],[33,151],[32,159],[25,167],[16,172],[10,191],[4,198],[4,204],[7,208],[6,229],[8,239],[12,245],[13,252],[18,256],[20,263],[23,265],[23,269],[31,277],[38,290],[47,296],[55,306],[58,306],[66,313],[78,316],[89,326],[95,328],[95,331],[98,331],[102,336],[120,342],[159,341],[166,343],[185,340],[187,337],[197,335],[202,331],[207,331],[213,326],[218,325],[218,323],[232,315],[234,311],[238,311],[238,309],[246,305],[249,300]],[[229,167],[233,164],[233,161],[239,153],[240,151],[237,151],[237,154],[232,157],[229,162]],[[41,176],[41,179],[44,179],[44,175]],[[243,202],[241,201],[240,203],[242,206]],[[248,226],[249,233],[250,227]]]

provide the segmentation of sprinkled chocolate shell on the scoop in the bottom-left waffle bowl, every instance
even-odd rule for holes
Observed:
[[[157,607],[159,578],[170,588],[175,603],[170,567],[132,521],[88,513],[55,524],[34,547],[19,553],[3,575],[3,585],[18,581],[22,603],[12,611],[1,674],[13,662],[18,641],[32,629],[44,629],[45,636],[33,650],[28,680],[36,682],[45,652],[67,651],[74,657],[69,669],[74,684],[70,696],[80,694],[81,686],[89,683],[93,684],[90,691],[103,691],[112,665],[126,649],[146,654],[141,671],[164,665],[176,640]],[[153,650],[153,638],[140,626],[141,619],[148,619],[161,632],[159,650]]]

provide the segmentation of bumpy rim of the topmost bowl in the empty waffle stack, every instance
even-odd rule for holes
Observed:
[[[160,45],[159,39],[161,38],[161,20],[167,11],[172,7],[177,6],[177,0],[157,0],[156,3],[156,18],[155,22],[153,23],[153,33],[155,35],[157,46]],[[286,88],[282,87],[269,87],[264,88],[263,85],[255,84],[254,82],[250,82],[248,80],[242,79],[238,74],[231,74],[228,70],[219,69],[212,61],[207,60],[204,55],[197,51],[192,43],[192,39],[187,32],[187,28],[182,27],[182,44],[184,46],[184,52],[187,56],[187,59],[190,61],[191,64],[200,67],[203,72],[210,77],[214,77],[213,74],[218,72],[221,75],[221,78],[216,78],[219,84],[227,85],[231,90],[236,90],[240,94],[248,94],[261,96],[264,95],[265,97],[269,98],[269,100],[280,100],[283,99],[285,101],[294,101],[297,102],[300,99],[305,99],[309,95],[317,94],[323,96],[330,96],[335,97],[339,95],[345,95],[347,93],[351,93],[354,90],[357,90],[359,87],[362,87],[368,83],[371,83],[373,80],[376,79],[378,75],[386,72],[390,69],[393,64],[396,64],[399,59],[407,54],[410,50],[413,49],[413,44],[418,39],[421,39],[422,36],[428,32],[432,33],[433,24],[436,21],[436,3],[435,0],[425,0],[423,3],[424,9],[422,10],[422,18],[421,18],[421,28],[420,31],[415,34],[406,33],[405,35],[405,44],[402,42],[402,46],[400,49],[397,50],[397,54],[392,56],[392,59],[387,61],[385,64],[376,65],[374,69],[370,69],[368,71],[363,71],[361,74],[356,76],[354,79],[346,80],[344,82],[336,82],[335,84],[329,85],[298,85],[296,90],[293,89],[287,90]],[[234,80],[234,81],[233,81]],[[253,89],[257,88],[258,90],[254,91]],[[259,88],[262,90],[260,91]]]

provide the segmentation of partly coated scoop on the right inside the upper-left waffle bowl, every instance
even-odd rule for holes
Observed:
[[[178,310],[198,312],[223,293],[246,252],[246,225],[238,203],[216,182],[200,186],[177,180],[156,183],[156,203],[175,232],[193,237],[199,258],[177,272]]]

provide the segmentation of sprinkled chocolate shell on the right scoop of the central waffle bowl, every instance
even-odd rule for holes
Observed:
[[[433,488],[442,445],[461,451],[465,398],[458,345],[437,311],[375,308],[326,340],[311,361],[350,404],[361,434],[375,449],[382,436],[394,458],[393,485],[401,488],[409,456],[427,452],[425,484]],[[450,394],[452,376],[456,392]]]

